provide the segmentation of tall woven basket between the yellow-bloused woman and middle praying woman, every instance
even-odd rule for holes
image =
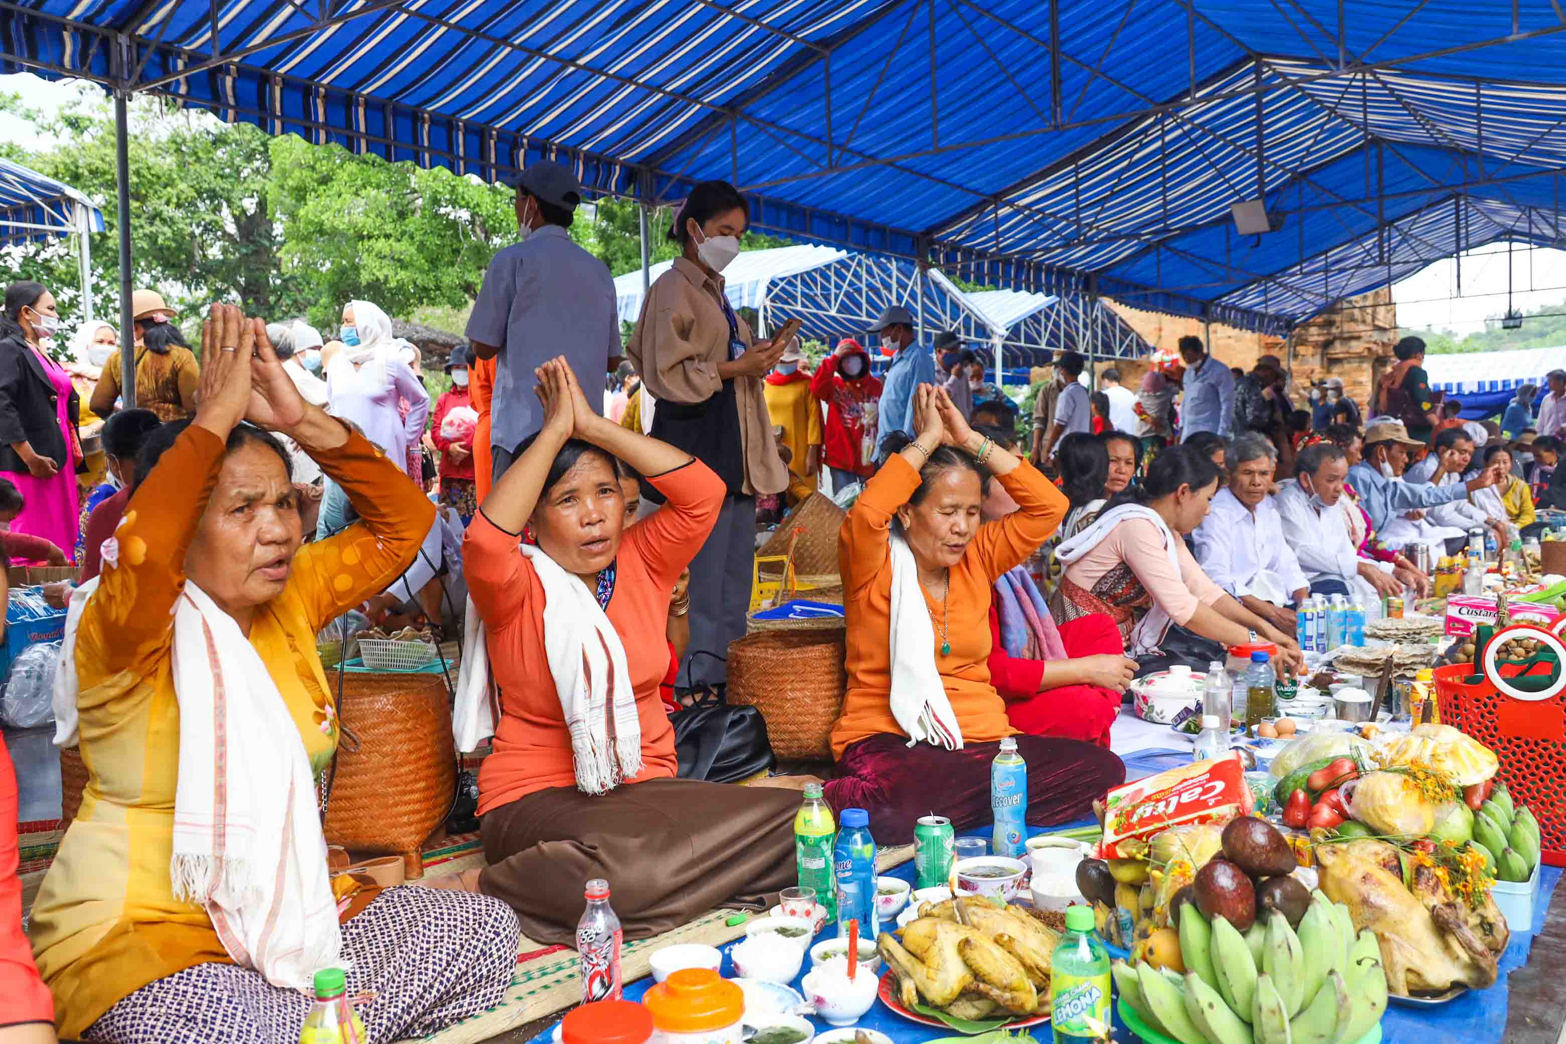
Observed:
[[[337,678],[330,679],[337,687]],[[457,787],[451,703],[440,675],[348,675],[326,841],[355,855],[402,856],[423,877],[420,847],[451,811]]]

